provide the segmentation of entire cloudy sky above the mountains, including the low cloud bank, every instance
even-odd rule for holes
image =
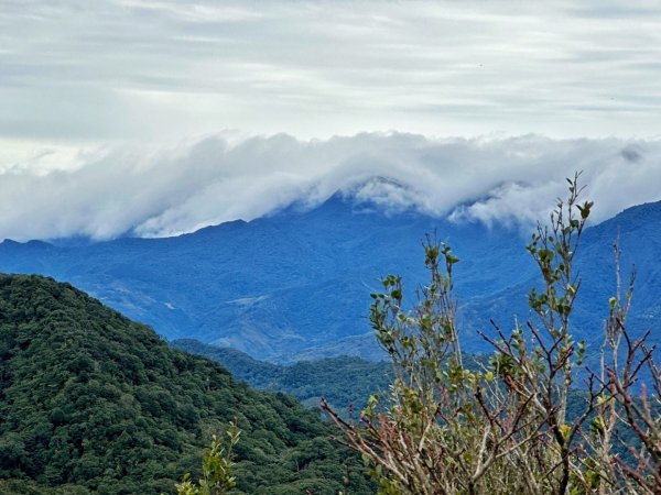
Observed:
[[[583,167],[607,218],[661,199],[660,80],[658,1],[0,0],[0,239],[186,232],[368,174],[491,222]]]

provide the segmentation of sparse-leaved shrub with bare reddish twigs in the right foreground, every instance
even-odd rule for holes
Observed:
[[[541,275],[530,320],[511,332],[495,323],[483,336],[494,353],[481,371],[463,362],[458,258],[447,245],[427,239],[430,282],[411,311],[398,276],[372,295],[370,319],[395,374],[390,395],[372,396],[358,425],[322,407],[371,468],[380,494],[661,493],[661,380],[653,349],[627,331],[633,277],[621,294],[619,263],[604,343],[589,350],[600,353],[599,370],[584,366],[587,350],[573,338],[574,257],[593,206],[578,202],[577,183],[578,175],[568,179],[568,198],[528,245]],[[638,383],[643,375],[651,394]],[[585,393],[572,394],[582,382]],[[622,431],[637,438],[637,449],[625,446],[628,455],[617,454]]]

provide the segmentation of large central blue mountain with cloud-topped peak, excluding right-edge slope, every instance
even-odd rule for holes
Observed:
[[[292,207],[178,238],[80,246],[6,241],[0,270],[71,282],[167,339],[293,361],[368,332],[369,294],[381,276],[397,272],[410,287],[422,283],[421,242],[434,231],[465,260],[457,278],[465,295],[489,294],[531,273],[511,231],[383,211],[342,196],[312,210]],[[520,268],[503,271],[509,260]]]

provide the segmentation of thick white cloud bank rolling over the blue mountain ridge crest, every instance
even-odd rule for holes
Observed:
[[[596,201],[595,221],[661,200],[661,140],[221,133],[67,156],[57,169],[0,172],[0,239],[173,235],[294,201],[312,207],[338,190],[456,221],[528,223],[546,216],[575,170]]]

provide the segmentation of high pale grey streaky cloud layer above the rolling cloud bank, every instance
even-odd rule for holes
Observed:
[[[659,2],[0,6],[4,138],[661,134]]]

